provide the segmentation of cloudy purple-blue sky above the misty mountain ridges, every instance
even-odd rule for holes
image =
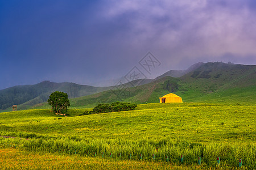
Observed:
[[[256,64],[255,0],[0,0],[0,90]]]

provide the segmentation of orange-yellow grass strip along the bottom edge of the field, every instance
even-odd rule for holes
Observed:
[[[232,167],[208,167],[166,162],[118,160],[110,158],[28,152],[15,148],[0,148],[1,169],[234,169]],[[247,169],[242,167],[240,169]]]

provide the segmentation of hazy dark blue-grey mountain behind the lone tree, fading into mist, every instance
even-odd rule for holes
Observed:
[[[63,91],[70,98],[91,95],[109,90],[111,87],[93,87],[76,83],[53,83],[44,81],[35,85],[15,86],[0,91],[0,109],[6,109],[14,104],[35,105],[47,101],[54,91]]]

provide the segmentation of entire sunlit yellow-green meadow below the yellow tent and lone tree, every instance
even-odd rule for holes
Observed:
[[[20,166],[25,160],[5,153],[27,159],[30,154],[51,155],[54,159],[42,162],[67,159],[77,169],[101,166],[99,162],[110,169],[209,169],[218,168],[217,157],[222,169],[238,168],[239,159],[243,169],[256,168],[254,104],[153,103],[138,105],[135,111],[78,116],[85,110],[69,109],[68,117],[49,109],[0,113],[1,136],[16,137],[0,138],[1,154]]]

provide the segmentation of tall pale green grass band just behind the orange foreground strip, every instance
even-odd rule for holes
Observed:
[[[165,162],[166,156],[172,164],[183,162],[189,166],[197,164],[198,158],[205,167],[216,167],[217,157],[221,158],[223,168],[236,168],[239,159],[243,166],[249,169],[256,167],[256,145],[249,143],[191,143],[189,141],[174,141],[171,138],[159,140],[141,139],[130,141],[123,139],[22,139],[0,138],[2,148],[19,148],[31,152],[44,152],[62,155],[80,155],[90,157],[112,158],[113,160],[146,160]],[[110,156],[112,155],[112,156]],[[130,158],[131,156],[131,158]],[[142,156],[142,157],[141,157]]]

